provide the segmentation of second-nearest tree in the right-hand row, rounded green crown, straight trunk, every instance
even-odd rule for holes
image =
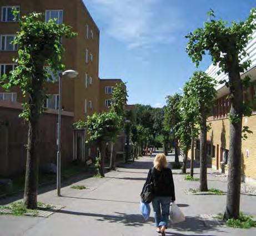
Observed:
[[[216,81],[202,71],[196,71],[189,81],[189,95],[192,103],[197,101],[198,125],[200,129],[200,190],[207,187],[207,117],[212,111],[213,99],[216,96]]]

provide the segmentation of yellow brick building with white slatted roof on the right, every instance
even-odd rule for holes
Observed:
[[[250,103],[253,108],[253,114],[250,117],[243,117],[243,126],[248,126],[252,134],[242,140],[242,178],[245,182],[256,184],[256,31],[252,34],[252,39],[246,47],[249,56],[243,57],[243,61],[250,60],[251,67],[245,73],[241,74],[242,78],[250,76],[250,86],[244,91],[244,102]],[[207,69],[209,76],[220,80],[227,80],[227,74],[217,72],[218,66],[211,65]],[[220,172],[228,172],[228,153],[229,153],[229,119],[230,101],[228,99],[229,89],[223,84],[217,87],[217,98],[215,98],[212,116],[208,118],[210,130],[207,133],[207,155],[208,161],[212,167]],[[197,140],[195,145],[195,157],[199,158],[200,143]]]

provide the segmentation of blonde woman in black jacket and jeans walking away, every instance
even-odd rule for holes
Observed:
[[[168,168],[168,162],[163,153],[157,154],[154,159],[154,168],[148,172],[148,178],[143,186],[153,183],[152,205],[154,209],[155,227],[157,232],[165,235],[168,226],[170,202],[175,201],[175,191],[172,170]]]

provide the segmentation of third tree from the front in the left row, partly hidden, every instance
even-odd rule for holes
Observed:
[[[126,106],[127,103],[127,90],[126,90],[126,84],[124,83],[119,83],[116,84],[116,86],[113,89],[113,94],[112,94],[112,101],[111,101],[111,107],[110,111],[115,112],[119,117],[124,119],[124,106]],[[124,125],[121,125],[120,131]],[[111,158],[110,158],[110,164],[109,168],[111,170],[116,169],[116,154],[114,153],[114,142],[111,142]]]

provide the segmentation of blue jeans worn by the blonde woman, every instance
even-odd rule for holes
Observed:
[[[170,214],[171,197],[154,197],[152,205],[154,209],[155,226],[167,227]],[[162,209],[162,211],[161,211]]]

